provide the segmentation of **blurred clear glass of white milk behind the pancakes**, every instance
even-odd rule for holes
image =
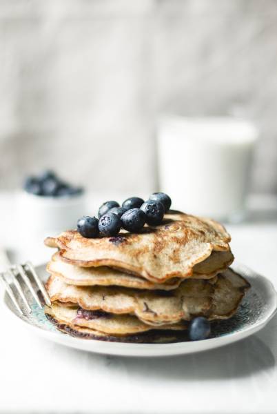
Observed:
[[[172,206],[238,221],[245,212],[258,131],[231,117],[165,117],[158,125],[158,177]]]

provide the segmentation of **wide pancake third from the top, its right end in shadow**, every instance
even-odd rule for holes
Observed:
[[[247,288],[245,279],[231,269],[218,275],[216,281],[187,279],[170,292],[115,286],[78,287],[65,284],[54,275],[46,284],[51,302],[113,315],[135,315],[151,326],[190,321],[196,316],[227,319],[236,312]]]

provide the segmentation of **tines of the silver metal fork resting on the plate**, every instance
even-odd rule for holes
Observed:
[[[37,288],[39,288],[38,291],[43,296],[45,304],[51,306],[50,297],[45,290],[43,282],[41,282],[41,279],[39,279],[39,275],[37,275],[36,270],[34,270],[32,263],[26,262],[25,264],[14,264],[9,266],[6,271],[0,273],[0,280],[20,315],[24,315],[24,312],[17,299],[18,295],[21,297],[22,302],[25,304],[25,308],[27,308],[28,313],[32,313],[30,301],[28,302],[28,297],[26,297],[23,288],[21,287],[22,282],[25,284],[25,286],[27,286],[32,295],[32,298],[35,300],[35,302],[37,302],[39,308],[42,308],[39,296],[32,286],[32,279],[34,280]],[[21,283],[19,282],[20,280]],[[18,294],[17,296],[14,294],[14,291]]]

